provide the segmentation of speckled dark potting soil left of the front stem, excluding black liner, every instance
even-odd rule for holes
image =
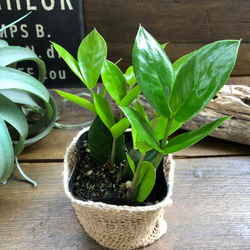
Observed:
[[[92,200],[103,197],[126,197],[127,189],[121,181],[124,164],[115,165],[112,172],[108,171],[107,164],[94,162],[87,140],[84,140],[81,149],[79,166],[72,187],[74,196],[82,200]]]

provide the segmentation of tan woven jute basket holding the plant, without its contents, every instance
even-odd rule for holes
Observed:
[[[116,206],[102,202],[81,201],[74,198],[68,187],[68,179],[77,158],[76,143],[83,129],[73,139],[64,159],[64,188],[76,215],[85,231],[100,245],[110,249],[136,249],[152,244],[167,231],[163,218],[164,207],[172,204],[174,161],[165,157],[164,170],[169,184],[167,197],[149,206]]]

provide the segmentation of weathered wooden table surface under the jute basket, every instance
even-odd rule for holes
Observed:
[[[93,118],[70,103],[66,112],[61,123]],[[16,168],[0,185],[0,249],[103,249],[85,233],[63,190],[63,157],[80,129],[53,129],[19,156],[38,186]],[[207,137],[174,159],[168,232],[145,249],[250,249],[250,146]]]

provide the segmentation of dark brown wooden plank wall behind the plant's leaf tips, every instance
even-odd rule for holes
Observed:
[[[134,39],[141,24],[174,62],[221,39],[242,39],[234,76],[250,75],[250,1],[83,0],[85,34],[96,28],[109,46],[108,57],[124,71],[131,65]]]

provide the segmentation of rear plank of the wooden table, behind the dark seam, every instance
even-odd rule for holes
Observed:
[[[87,92],[87,89],[63,89],[70,93]],[[55,98],[57,104],[60,104],[61,98],[54,90],[49,90]],[[113,107],[114,108],[114,107]],[[79,124],[94,119],[94,115],[86,109],[79,107],[71,102],[66,103],[65,113],[58,121],[61,124]],[[19,161],[62,161],[66,148],[72,139],[77,135],[82,127],[74,129],[53,129],[48,136],[38,143],[27,147],[24,152],[18,156]],[[214,147],[210,147],[210,144]],[[211,139],[209,137],[203,139],[191,148],[184,149],[176,153],[176,156],[183,157],[185,155],[195,156],[225,156],[225,155],[245,155],[249,153],[248,147],[243,145],[235,145],[220,139]]]

